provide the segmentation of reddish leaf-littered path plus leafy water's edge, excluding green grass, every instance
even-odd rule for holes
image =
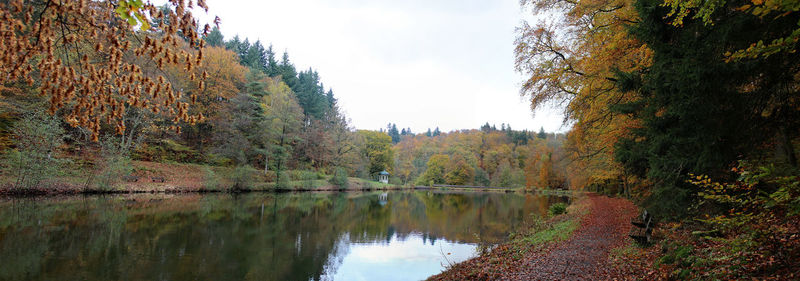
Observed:
[[[434,280],[625,280],[608,263],[611,249],[625,243],[631,217],[637,209],[630,201],[587,195],[589,214],[581,226],[562,242],[528,252],[520,259],[501,245],[440,275]]]

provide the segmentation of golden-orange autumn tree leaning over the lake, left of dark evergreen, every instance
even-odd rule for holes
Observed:
[[[627,32],[639,21],[631,0],[523,1],[533,14],[558,14],[518,28],[516,68],[526,75],[521,94],[535,110],[564,104],[573,122],[571,153],[576,161],[611,158],[617,139],[637,123],[612,110],[636,100],[617,88],[616,73],[643,71],[650,49]],[[546,138],[540,130],[539,138]],[[608,166],[614,173],[621,169]],[[584,174],[591,174],[587,172]],[[586,182],[586,181],[585,181]]]

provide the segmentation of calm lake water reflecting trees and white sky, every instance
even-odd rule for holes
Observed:
[[[0,280],[420,280],[565,200],[435,191],[0,199]]]

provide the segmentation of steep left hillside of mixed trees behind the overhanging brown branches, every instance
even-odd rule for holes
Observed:
[[[52,167],[65,164],[58,163],[59,158],[76,157],[90,160],[71,165],[89,168],[99,166],[102,159],[121,157],[260,167],[264,171],[346,167],[351,174],[366,173],[361,151],[356,149],[365,145],[364,137],[350,128],[333,91],[323,86],[316,71],[297,71],[288,53],[278,61],[272,48],[258,41],[251,44],[238,37],[226,41],[217,28],[204,38],[205,47],[197,51],[203,56],[202,64],[195,66],[204,76],[203,85],[193,82],[201,79],[194,72],[180,66],[156,69],[151,62],[130,62],[145,70],[154,68],[150,71],[163,75],[159,79],[181,89],[183,97],[171,98],[186,101],[187,106],[177,108],[182,112],[175,112],[174,107],[112,104],[121,107],[114,116],[121,126],[113,126],[116,120],[108,118],[100,122],[96,133],[63,122],[69,120],[66,108],[45,112],[47,100],[36,95],[39,89],[35,87],[44,82],[34,80],[34,87],[6,83],[0,104],[4,164],[8,167],[4,170],[30,173],[18,177],[15,185],[22,187],[39,183],[33,175],[41,175],[41,171],[26,168],[32,163]],[[188,44],[181,46],[192,51]],[[71,49],[56,53],[64,61],[78,57]],[[158,92],[152,92],[157,97]],[[190,122],[182,122],[172,115],[192,117]],[[51,143],[42,147],[42,141]],[[43,153],[47,159],[41,159]],[[52,163],[43,163],[48,159]]]

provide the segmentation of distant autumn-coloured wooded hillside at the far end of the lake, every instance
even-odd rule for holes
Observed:
[[[390,125],[389,135],[393,135]],[[512,130],[485,124],[480,130],[400,135],[394,145],[398,183],[473,185],[526,189],[567,188],[563,134]]]

